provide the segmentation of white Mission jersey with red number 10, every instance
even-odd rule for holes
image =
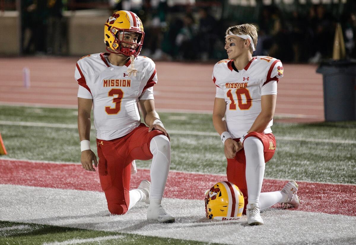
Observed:
[[[217,87],[215,97],[223,98],[226,102],[227,130],[233,138],[240,138],[250,130],[261,113],[261,96],[277,94],[277,86],[273,89],[267,87],[272,83],[277,84],[278,79],[283,77],[283,66],[276,58],[256,56],[237,72],[232,68],[232,62],[224,59],[215,64],[213,82]],[[263,131],[265,134],[272,132],[272,124],[273,119]]]

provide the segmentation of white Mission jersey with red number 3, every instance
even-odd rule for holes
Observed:
[[[152,59],[137,56],[134,60],[137,76],[129,77],[125,66],[113,66],[109,53],[84,56],[77,62],[75,80],[78,97],[93,99],[96,137],[112,140],[129,134],[141,123],[139,99],[154,99],[157,83],[156,66]]]

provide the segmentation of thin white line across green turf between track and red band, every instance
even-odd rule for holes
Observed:
[[[77,124],[57,124],[57,123],[35,123],[35,122],[15,122],[15,121],[0,121],[0,125],[11,126],[29,126],[29,127],[56,127],[64,129],[77,129]],[[92,130],[95,128],[92,126]],[[169,134],[181,134],[181,135],[201,135],[201,136],[219,136],[217,132],[201,132],[201,131],[181,131],[181,130],[167,130]],[[277,136],[277,140],[288,141],[307,141],[307,142],[324,142],[324,143],[337,143],[337,144],[356,144],[355,140],[333,140],[333,139],[307,139],[302,137],[287,137]]]

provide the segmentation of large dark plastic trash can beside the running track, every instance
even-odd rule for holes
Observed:
[[[325,121],[356,120],[356,61],[322,62]]]

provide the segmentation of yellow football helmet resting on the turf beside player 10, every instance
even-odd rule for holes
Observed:
[[[238,220],[244,204],[244,196],[239,187],[228,181],[218,182],[205,194],[206,218]]]

